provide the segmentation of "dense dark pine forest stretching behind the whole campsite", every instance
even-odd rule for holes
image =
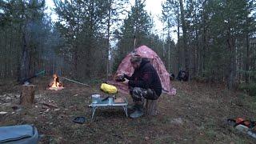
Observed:
[[[0,0],[0,78],[22,81],[41,70],[81,81],[108,78],[134,47],[146,45],[170,73],[186,70],[190,80],[252,91],[255,3],[166,0],[165,28],[156,34],[145,0],[54,0],[57,22],[44,0]]]

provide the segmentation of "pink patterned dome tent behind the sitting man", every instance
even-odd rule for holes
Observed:
[[[120,65],[118,66],[118,70],[116,74],[124,73],[131,76],[134,73],[134,68],[131,66],[130,58],[134,55],[138,54],[142,56],[142,58],[149,58],[151,64],[157,70],[159,78],[162,83],[162,91],[167,94],[174,95],[176,94],[176,90],[170,84],[170,74],[167,72],[166,67],[164,66],[161,58],[158,57],[158,54],[151,50],[147,46],[140,46],[134,51],[130,52],[130,54],[126,55],[126,58],[122,60]],[[115,74],[115,75],[116,75]],[[129,94],[128,86],[123,84],[122,82],[115,82],[114,79],[109,82],[114,86],[118,87],[118,90],[122,93]]]

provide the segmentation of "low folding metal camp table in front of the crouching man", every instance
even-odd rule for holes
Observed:
[[[124,110],[126,117],[128,117],[127,114],[127,105],[128,102],[126,98],[123,98],[124,102],[114,102],[113,98],[109,97],[106,100],[103,100],[103,98],[99,98],[97,102],[92,102],[90,106],[92,107],[92,116],[91,119],[94,118],[95,111],[98,107],[114,107],[114,106],[121,106]]]

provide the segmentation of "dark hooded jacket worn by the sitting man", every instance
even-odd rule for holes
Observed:
[[[129,79],[128,84],[131,87],[150,88],[158,96],[162,94],[162,85],[158,73],[147,58],[142,58],[142,62],[138,69],[134,70],[134,74],[131,77],[125,74],[125,78]]]

